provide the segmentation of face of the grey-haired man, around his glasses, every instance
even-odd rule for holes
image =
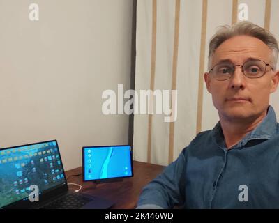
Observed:
[[[250,36],[235,36],[216,49],[211,68],[221,60],[242,65],[249,58],[261,59],[272,65],[271,55],[271,49],[261,40]],[[249,121],[266,111],[269,106],[269,95],[276,91],[278,86],[279,72],[267,66],[263,77],[249,79],[243,75],[241,67],[236,66],[230,79],[218,81],[209,73],[205,73],[204,80],[219,116],[234,121],[244,119]]]

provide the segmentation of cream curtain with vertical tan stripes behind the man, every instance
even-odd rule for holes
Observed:
[[[134,116],[134,159],[167,165],[176,160],[198,132],[218,122],[203,74],[208,45],[218,26],[239,21],[239,4],[248,6],[248,20],[279,39],[278,0],[140,0],[137,1],[135,91],[176,89],[177,119],[164,115]],[[279,117],[279,90],[271,105]]]

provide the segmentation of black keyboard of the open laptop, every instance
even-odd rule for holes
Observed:
[[[65,196],[43,206],[43,209],[79,209],[93,199],[80,194],[66,194]]]

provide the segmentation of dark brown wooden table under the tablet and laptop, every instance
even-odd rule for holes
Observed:
[[[68,178],[68,183],[82,185],[80,192],[114,201],[113,209],[133,209],[137,205],[142,188],[158,176],[164,168],[164,166],[156,164],[133,161],[134,176],[112,183],[96,184],[93,182],[83,182],[82,175],[72,176],[81,174],[82,167],[66,171],[66,177]],[[78,187],[69,185],[69,190],[77,189]]]

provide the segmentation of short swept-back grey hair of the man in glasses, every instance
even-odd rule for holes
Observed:
[[[276,70],[279,47],[275,36],[273,36],[273,34],[269,31],[266,31],[264,28],[248,21],[238,22],[232,26],[220,26],[220,29],[211,38],[209,43],[209,70],[211,69],[212,56],[216,49],[223,42],[225,42],[225,40],[228,40],[229,38],[232,38],[234,36],[241,35],[252,36],[258,38],[259,40],[262,40],[262,42],[264,42],[272,51],[272,67],[274,70]]]

